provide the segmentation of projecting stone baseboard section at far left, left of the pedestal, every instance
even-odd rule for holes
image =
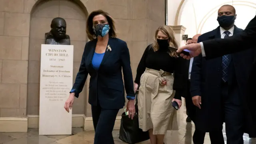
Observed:
[[[28,118],[0,118],[0,132],[28,132]]]

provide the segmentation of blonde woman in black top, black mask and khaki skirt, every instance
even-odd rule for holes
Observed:
[[[155,42],[150,44],[138,65],[135,91],[138,93],[139,126],[149,131],[151,144],[163,144],[167,130],[178,130],[176,110],[179,107],[186,81],[185,60],[168,48],[178,48],[174,31],[170,26],[160,26],[155,33]]]

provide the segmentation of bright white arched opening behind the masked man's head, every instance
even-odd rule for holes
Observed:
[[[188,37],[209,32],[219,26],[218,9],[224,4],[236,8],[235,24],[238,28],[244,29],[255,16],[255,0],[187,0],[182,5],[177,24],[186,27],[185,34],[188,34]]]

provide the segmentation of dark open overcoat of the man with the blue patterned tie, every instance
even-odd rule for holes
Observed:
[[[243,30],[234,28],[234,36]],[[198,42],[221,38],[220,27],[211,32],[202,34],[198,38]],[[216,47],[218,49],[218,47]],[[254,60],[253,49],[245,50],[231,54],[231,62],[228,68],[228,85],[234,93],[232,102],[240,104],[244,102],[247,92],[247,81],[252,70],[252,62]],[[202,97],[202,109],[197,109],[196,124],[197,128],[209,132],[216,129],[222,129],[223,112],[221,107],[221,84],[222,84],[222,57],[206,60],[205,57],[199,55],[194,58],[191,72],[191,96]],[[237,86],[238,85],[238,86]],[[234,87],[235,86],[235,87]],[[237,88],[238,87],[238,88]],[[235,88],[235,89],[234,89]],[[246,105],[243,103],[243,106]],[[245,131],[248,132],[248,131]]]

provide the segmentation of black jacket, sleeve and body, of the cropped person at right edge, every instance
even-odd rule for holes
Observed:
[[[240,86],[243,85],[243,87],[247,87],[247,95],[243,97],[244,99],[246,99],[246,105],[244,105],[244,119],[246,120],[246,133],[248,133],[252,138],[256,137],[256,45],[254,42],[255,38],[256,16],[248,23],[245,30],[240,34],[237,34],[236,36],[232,36],[230,38],[225,39],[207,40],[203,42],[207,59],[216,58],[219,56],[223,56],[225,54],[242,52],[244,50],[247,50],[247,52],[245,52],[244,54],[248,54],[247,56],[249,57],[251,57],[251,55],[254,54],[254,62],[248,78],[248,83],[240,83]],[[252,52],[252,50],[249,49],[253,49],[254,52]],[[242,61],[238,64],[238,66],[244,65],[243,68],[250,65],[248,62],[243,60],[244,57],[240,58],[240,60]],[[243,70],[241,70],[241,73],[244,73],[242,71]],[[247,73],[247,70],[245,72]]]

